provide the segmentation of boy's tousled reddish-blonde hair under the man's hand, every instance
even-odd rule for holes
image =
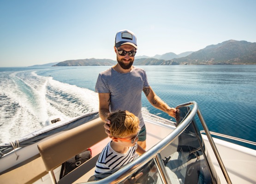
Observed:
[[[139,119],[127,110],[119,110],[108,115],[110,135],[114,138],[125,138],[139,131]]]

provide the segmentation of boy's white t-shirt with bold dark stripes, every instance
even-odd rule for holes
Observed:
[[[96,163],[95,174],[105,173],[115,168],[124,166],[138,157],[135,146],[129,147],[125,153],[118,153],[112,149],[110,141],[102,150],[101,155]]]

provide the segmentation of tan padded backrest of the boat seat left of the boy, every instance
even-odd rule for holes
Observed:
[[[104,123],[100,118],[97,118],[38,144],[38,150],[46,171],[50,173],[53,182],[57,183],[53,172],[56,167],[104,138],[107,138]],[[94,162],[95,159],[89,159],[87,162]],[[86,164],[87,162],[83,165],[89,166],[90,164]],[[95,164],[91,166],[94,167]]]

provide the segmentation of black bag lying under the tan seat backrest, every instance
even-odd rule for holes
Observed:
[[[91,149],[87,149],[62,163],[60,170],[60,179],[63,178],[68,173],[70,173],[71,171],[73,171],[75,168],[79,167],[85,161],[88,161],[90,158]]]

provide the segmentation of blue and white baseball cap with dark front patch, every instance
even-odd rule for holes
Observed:
[[[136,36],[134,35],[133,32],[124,29],[117,32],[116,39],[115,39],[115,46],[119,47],[125,44],[134,46],[137,49]]]

